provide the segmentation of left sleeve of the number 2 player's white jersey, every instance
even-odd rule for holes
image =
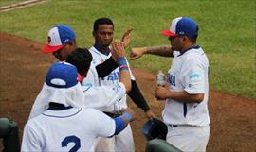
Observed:
[[[24,128],[21,151],[42,151],[39,136],[29,122]]]

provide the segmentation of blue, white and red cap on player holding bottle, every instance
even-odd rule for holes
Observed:
[[[197,36],[198,25],[192,20],[192,18],[178,17],[172,20],[170,29],[163,30],[161,34],[168,37],[175,37],[179,35]]]

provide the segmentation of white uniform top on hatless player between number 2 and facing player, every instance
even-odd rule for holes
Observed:
[[[80,93],[78,90],[82,90]],[[51,95],[52,88],[49,88],[46,83],[43,86],[42,91],[38,94],[32,109],[29,114],[29,119],[34,118],[44,111],[47,110],[49,106],[49,100],[46,100],[49,95]],[[78,84],[74,88],[76,93],[76,101],[70,102],[73,107],[78,108],[94,108],[101,110],[102,108],[109,107],[115,102],[119,101],[123,95],[126,93],[125,86],[122,83],[117,83],[116,85],[109,86],[92,86],[85,85],[81,86]],[[63,96],[60,94],[60,96]],[[53,100],[59,99],[59,96],[52,96]]]

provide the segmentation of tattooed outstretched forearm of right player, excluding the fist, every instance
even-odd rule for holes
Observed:
[[[173,57],[173,50],[171,45],[145,47],[145,53],[154,54],[162,57]]]

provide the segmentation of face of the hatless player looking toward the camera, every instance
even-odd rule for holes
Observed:
[[[108,47],[113,40],[113,25],[99,25],[96,32],[93,33],[95,44],[101,47]]]

